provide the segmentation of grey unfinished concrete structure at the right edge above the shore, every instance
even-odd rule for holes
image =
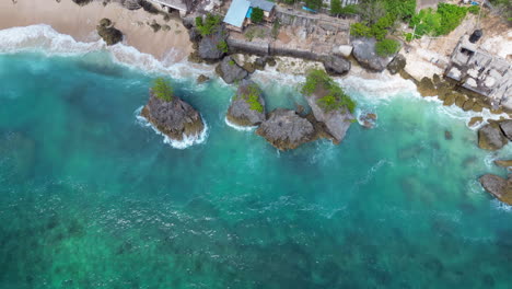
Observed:
[[[488,96],[492,104],[512,109],[512,65],[479,49],[464,35],[452,54],[445,76],[463,88]]]

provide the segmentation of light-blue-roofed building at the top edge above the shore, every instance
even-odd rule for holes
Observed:
[[[253,8],[264,11],[264,20],[271,21],[275,3],[267,0],[233,0],[224,18],[228,28],[242,32],[244,26],[251,22]]]

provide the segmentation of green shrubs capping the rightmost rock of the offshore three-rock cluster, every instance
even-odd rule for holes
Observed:
[[[317,90],[326,91],[326,94],[316,103],[326,112],[347,107],[350,113],[356,109],[356,102],[348,96],[344,90],[324,71],[312,70],[307,73],[306,82],[302,86],[303,94],[312,94]]]

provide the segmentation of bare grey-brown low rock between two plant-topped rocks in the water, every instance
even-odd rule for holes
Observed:
[[[279,150],[290,150],[313,140],[315,129],[296,112],[280,108],[269,114],[268,119],[261,123],[256,134]]]

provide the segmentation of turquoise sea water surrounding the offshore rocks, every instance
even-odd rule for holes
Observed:
[[[439,104],[349,88],[375,129],[278,153],[225,125],[234,89],[174,80],[209,126],[177,150],[133,115],[154,76],[108,59],[0,55],[1,288],[510,288],[512,211],[476,182],[505,172]]]

